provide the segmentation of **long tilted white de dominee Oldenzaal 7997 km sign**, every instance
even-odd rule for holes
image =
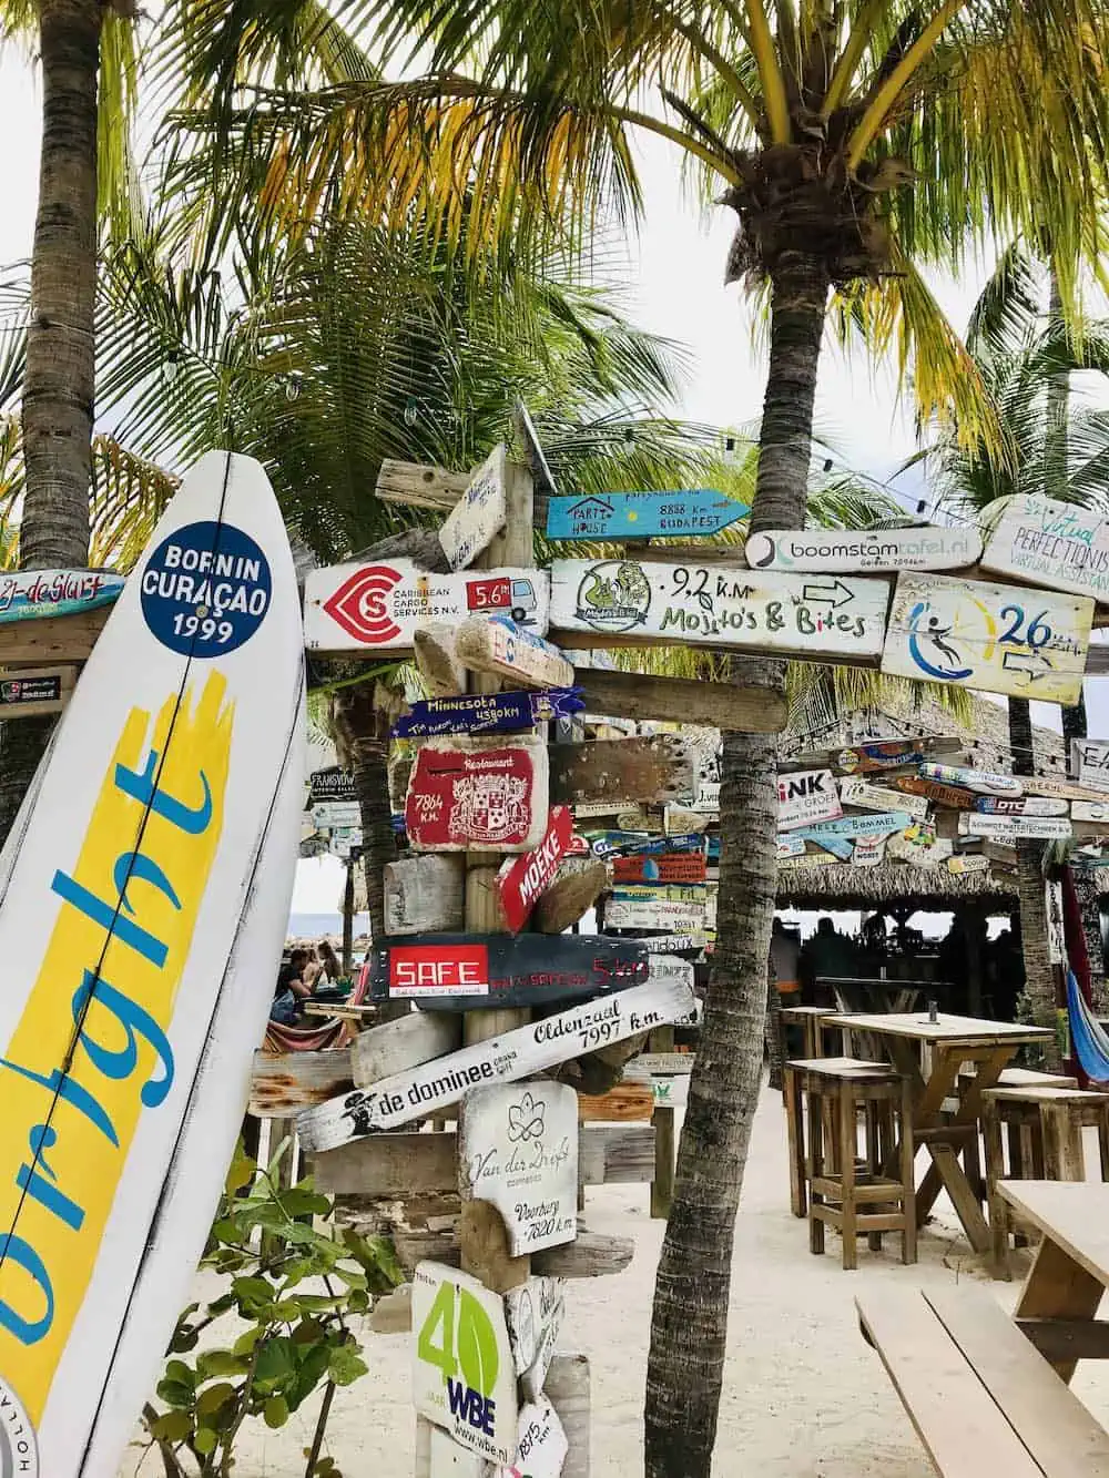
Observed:
[[[692,967],[688,968],[692,977]],[[297,1116],[300,1144],[312,1151],[334,1150],[374,1129],[439,1113],[470,1088],[531,1077],[599,1046],[682,1021],[695,1011],[691,980],[667,973],[309,1108]]]

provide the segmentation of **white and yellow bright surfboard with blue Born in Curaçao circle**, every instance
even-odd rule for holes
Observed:
[[[262,467],[185,479],[0,854],[0,1474],[115,1478],[223,1184],[300,835]]]

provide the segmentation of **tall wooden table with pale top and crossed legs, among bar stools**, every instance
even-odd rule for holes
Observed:
[[[912,1134],[932,1156],[924,1179],[917,1187],[917,1222],[923,1225],[940,1188],[946,1190],[974,1252],[989,1252],[989,1228],[982,1215],[982,1188],[971,1187],[958,1162],[973,1147],[977,1153],[977,1122],[982,1094],[992,1088],[1019,1046],[1050,1041],[1045,1027],[1013,1021],[979,1021],[939,1012],[929,1021],[926,1011],[881,1011],[861,1015],[830,1014],[824,1026],[844,1033],[868,1032],[880,1041],[899,1073],[912,1083]],[[932,1049],[932,1067],[924,1076],[921,1048]],[[961,1086],[963,1063],[974,1063],[976,1073]],[[943,1103],[957,1100],[954,1113]]]

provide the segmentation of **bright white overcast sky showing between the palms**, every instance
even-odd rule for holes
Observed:
[[[31,251],[38,180],[40,92],[21,53],[0,50],[0,137],[4,149],[4,210],[0,211],[0,270]],[[764,353],[753,334],[753,315],[739,284],[723,287],[725,259],[735,229],[726,208],[701,211],[685,197],[674,152],[662,139],[639,142],[645,219],[628,241],[627,307],[643,327],[685,344],[691,375],[679,412],[693,421],[744,427],[757,421],[764,383]],[[957,327],[961,327],[988,275],[985,263],[960,278],[929,278]],[[915,449],[912,418],[899,401],[890,365],[825,346],[816,395],[816,426],[838,469],[890,483]],[[902,501],[914,498],[903,492]],[[1105,689],[1105,698],[1097,692]],[[1109,733],[1109,683],[1088,683],[1091,735]],[[1037,723],[1059,727],[1059,709],[1034,704]],[[294,912],[333,912],[342,866],[331,859],[300,863]]]

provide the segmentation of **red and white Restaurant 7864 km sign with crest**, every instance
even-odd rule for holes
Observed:
[[[429,739],[404,806],[423,851],[531,851],[547,828],[547,746],[540,739]]]

